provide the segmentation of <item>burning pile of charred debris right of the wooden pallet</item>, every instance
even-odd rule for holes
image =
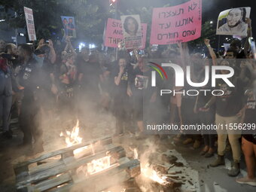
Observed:
[[[141,162],[141,174],[136,177],[136,182],[142,192],[196,189],[196,179],[190,178],[190,172],[194,170],[190,169],[175,150],[169,151],[163,146],[155,145],[151,139],[138,142],[137,145],[138,149],[135,150],[133,145],[130,151]]]

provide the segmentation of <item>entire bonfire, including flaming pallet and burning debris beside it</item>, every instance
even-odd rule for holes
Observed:
[[[149,148],[154,150],[128,147],[131,157],[110,136],[83,142],[80,131],[77,121],[59,135],[66,148],[17,164],[17,190],[84,191],[86,186],[86,191],[96,192],[151,192],[179,191],[187,181],[193,184],[181,171],[186,167],[181,158],[158,152],[152,143]]]

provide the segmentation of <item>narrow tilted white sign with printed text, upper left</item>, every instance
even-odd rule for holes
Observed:
[[[24,7],[24,13],[26,18],[26,29],[28,30],[28,34],[29,34],[29,41],[35,41],[36,35],[35,35],[33,11],[31,8]]]

